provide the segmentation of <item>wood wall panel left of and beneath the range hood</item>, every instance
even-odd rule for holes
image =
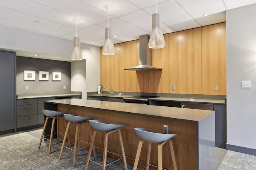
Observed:
[[[110,83],[113,91],[148,92],[148,71],[124,70],[139,65],[139,40],[115,44],[116,55],[100,56],[100,82]],[[101,49],[102,50],[102,47]],[[127,89],[130,86],[130,90]],[[109,91],[106,89],[103,91]]]

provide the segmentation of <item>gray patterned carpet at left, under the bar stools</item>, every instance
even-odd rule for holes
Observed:
[[[76,164],[72,166],[73,151],[64,149],[59,160],[61,143],[53,145],[48,154],[48,141],[43,141],[38,149],[39,139],[27,133],[0,135],[0,169],[2,170],[83,170],[87,149],[77,152]],[[98,160],[102,160],[101,156]],[[108,162],[112,159],[108,158]],[[108,163],[107,162],[107,163]],[[132,169],[132,166],[128,166]],[[89,163],[88,170],[98,170],[101,166]],[[124,164],[120,161],[107,166],[109,170],[122,170]]]

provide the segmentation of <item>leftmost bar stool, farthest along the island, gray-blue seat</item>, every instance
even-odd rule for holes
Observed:
[[[40,149],[40,147],[41,147],[42,139],[46,139],[46,140],[49,141],[49,139],[46,138],[49,135],[44,136],[44,132],[45,132],[46,125],[47,125],[47,122],[48,122],[49,118],[52,118],[52,128],[51,128],[50,143],[49,143],[49,149],[48,149],[48,153],[50,153],[51,152],[51,147],[52,147],[52,137],[54,135],[53,131],[54,131],[55,120],[57,120],[57,123],[58,123],[58,119],[61,118],[61,117],[64,117],[63,115],[65,113],[59,112],[59,111],[46,110],[46,109],[43,109],[43,113],[44,113],[44,115],[46,115],[46,120],[44,122],[44,128],[43,128],[43,131],[42,131],[42,135],[41,135],[41,138],[40,138],[38,149]],[[65,127],[67,127],[67,121],[66,120],[65,120]],[[57,126],[57,133],[58,133],[58,126]],[[55,134],[57,134],[57,133],[55,133]],[[58,139],[59,138],[57,136],[57,142],[58,142]],[[70,143],[69,136],[68,136],[68,143]]]

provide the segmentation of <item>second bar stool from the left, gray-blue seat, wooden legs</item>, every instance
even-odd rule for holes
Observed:
[[[74,140],[74,149],[71,149],[71,150],[74,150],[72,166],[75,166],[77,143],[78,143],[78,149],[82,149],[82,148],[80,148],[80,141],[82,141],[82,140],[80,140],[80,135],[81,135],[81,126],[80,125],[82,125],[83,123],[88,123],[88,120],[93,119],[93,118],[92,117],[82,117],[82,116],[71,115],[71,114],[64,114],[64,117],[68,121],[68,125],[66,127],[64,139],[63,139],[62,146],[60,149],[59,159],[61,158],[62,151],[63,151],[64,147],[70,149],[70,147],[65,146],[65,142],[66,142],[66,138],[68,136],[68,130],[70,127],[70,123],[75,123],[76,124],[76,135],[75,135],[75,140]],[[89,125],[89,131],[90,131],[90,136],[92,139],[92,129],[91,129],[90,125]],[[86,141],[82,141],[82,142],[88,143]],[[88,144],[90,144],[90,143],[88,143]],[[86,147],[89,147],[89,146],[90,145],[88,145]],[[83,147],[83,148],[86,148],[86,147]],[[93,152],[94,152],[94,156],[95,156],[96,152],[95,152],[94,145],[93,145]]]

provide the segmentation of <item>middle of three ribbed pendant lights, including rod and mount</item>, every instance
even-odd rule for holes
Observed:
[[[116,55],[114,43],[112,40],[112,32],[111,28],[109,27],[109,12],[110,6],[105,6],[106,10],[108,11],[108,27],[105,28],[105,42],[102,49],[102,55]]]

